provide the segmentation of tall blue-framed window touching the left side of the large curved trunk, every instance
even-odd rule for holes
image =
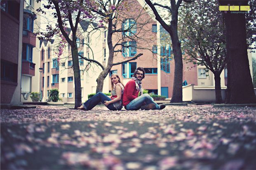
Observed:
[[[161,62],[160,67],[161,70],[165,71],[166,73],[170,73],[170,56],[172,55],[172,50],[170,47],[162,46],[161,48]]]

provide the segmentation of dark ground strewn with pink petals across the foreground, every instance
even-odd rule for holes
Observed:
[[[1,110],[1,169],[256,169],[256,108]]]

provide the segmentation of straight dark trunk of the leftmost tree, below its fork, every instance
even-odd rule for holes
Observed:
[[[73,71],[74,71],[74,79],[75,79],[75,109],[76,109],[80,107],[82,104],[78,48],[71,48],[71,53],[72,53],[72,59],[73,59]]]

